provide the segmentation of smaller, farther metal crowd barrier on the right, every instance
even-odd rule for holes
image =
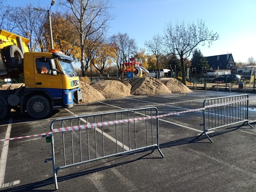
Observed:
[[[205,99],[203,102],[203,108],[205,108],[205,110],[203,110],[203,124],[201,124],[203,125],[203,133],[201,133],[199,137],[205,134],[212,142],[212,139],[210,139],[206,132],[237,123],[242,123],[241,126],[247,123],[251,128],[253,128],[253,126],[248,123],[249,100],[239,101],[240,99],[246,99],[248,97],[249,96],[247,94],[242,94]],[[227,102],[230,103],[227,105],[221,105],[221,103]],[[216,104],[219,104],[219,106],[209,106]]]

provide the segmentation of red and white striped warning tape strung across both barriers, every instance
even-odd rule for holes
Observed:
[[[218,103],[218,104],[208,105],[205,108],[228,105],[228,104],[232,104],[232,103],[246,101],[246,100],[249,100],[249,99],[256,99],[256,97],[250,97],[250,98],[239,99],[239,100],[234,100],[234,101],[225,102],[225,103]],[[0,142],[15,140],[15,139],[25,139],[25,138],[31,138],[31,137],[38,137],[38,136],[43,136],[43,135],[49,135],[51,133],[56,133],[56,132],[88,129],[88,128],[115,125],[115,124],[120,124],[120,123],[128,123],[128,122],[146,120],[146,119],[156,119],[156,118],[159,118],[159,117],[166,117],[166,116],[170,116],[170,115],[188,113],[188,112],[192,112],[192,111],[202,111],[202,110],[205,110],[205,108],[198,108],[198,109],[192,109],[192,110],[187,110],[187,111],[181,111],[181,112],[169,113],[169,114],[163,114],[163,115],[157,115],[157,116],[150,116],[150,117],[139,117],[139,118],[131,118],[131,119],[123,119],[123,120],[105,121],[105,122],[100,122],[100,123],[91,123],[91,124],[79,125],[79,126],[62,127],[62,128],[53,129],[51,132],[42,133],[42,134],[38,134],[38,135],[14,137],[14,138],[9,138],[9,139],[0,139]]]

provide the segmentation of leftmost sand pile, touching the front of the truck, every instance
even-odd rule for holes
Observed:
[[[105,97],[92,86],[80,81],[80,88],[82,90],[82,101],[80,103],[90,103],[94,101],[104,100]]]

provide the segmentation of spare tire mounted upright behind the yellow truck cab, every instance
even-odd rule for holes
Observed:
[[[7,66],[11,69],[23,69],[23,54],[16,45],[8,45],[5,47],[5,60]]]

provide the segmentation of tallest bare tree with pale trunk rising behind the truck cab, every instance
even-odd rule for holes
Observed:
[[[81,69],[84,77],[85,41],[95,34],[100,38],[108,30],[109,21],[114,19],[114,15],[109,13],[113,5],[110,0],[66,0],[59,1],[59,4],[66,7],[68,12],[71,11],[77,20],[74,26],[80,37]]]

